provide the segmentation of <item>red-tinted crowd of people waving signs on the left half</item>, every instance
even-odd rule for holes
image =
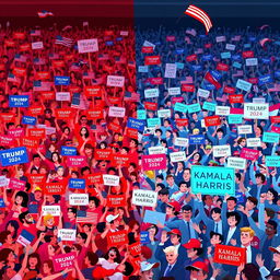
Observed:
[[[25,147],[28,159],[1,162],[0,279],[139,276],[133,33],[88,22],[0,30],[0,150]],[[82,52],[83,39],[97,48]]]

